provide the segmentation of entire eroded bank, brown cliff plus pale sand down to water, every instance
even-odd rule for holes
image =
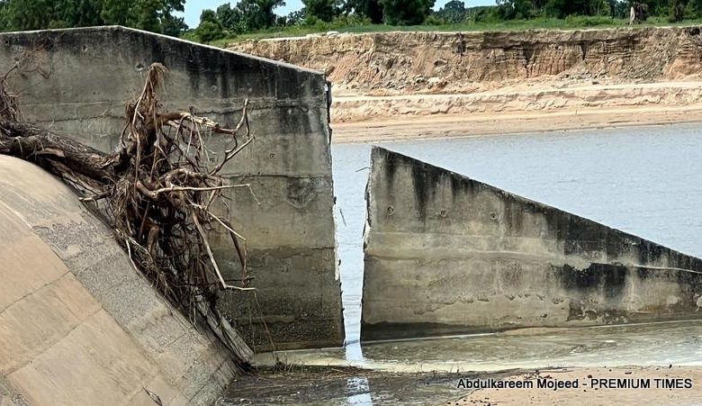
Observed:
[[[503,131],[549,130],[550,113],[571,115],[567,128],[616,125],[608,114],[617,110],[642,109],[633,124],[702,120],[699,27],[333,34],[229,49],[326,72],[342,138],[409,119],[444,132],[449,122],[488,122],[472,133],[494,131],[495,121]],[[535,127],[534,117],[546,122]]]

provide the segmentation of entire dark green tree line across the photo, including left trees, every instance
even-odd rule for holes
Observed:
[[[190,0],[195,1],[195,0]],[[189,29],[178,13],[185,0],[0,0],[0,31],[40,30],[119,24],[214,41],[247,32],[314,26],[419,25],[504,22],[572,16],[628,18],[636,5],[646,15],[670,22],[702,16],[702,0],[496,0],[494,6],[466,7],[451,0],[433,10],[435,0],[302,0],[304,7],[287,15],[276,14],[284,0],[239,0],[204,10],[197,27]]]

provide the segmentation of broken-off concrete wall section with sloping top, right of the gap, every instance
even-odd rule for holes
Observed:
[[[702,260],[374,148],[362,339],[702,318]]]

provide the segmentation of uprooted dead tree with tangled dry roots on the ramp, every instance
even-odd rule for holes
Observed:
[[[16,96],[0,78],[0,154],[23,158],[72,185],[114,231],[132,264],[185,314],[199,314],[239,365],[252,353],[215,303],[221,289],[250,290],[246,240],[213,207],[227,207],[227,185],[219,174],[254,140],[248,129],[247,101],[233,129],[187,112],[164,112],[157,101],[166,68],[153,64],[139,97],[127,105],[121,148],[112,154],[23,122]],[[8,72],[9,74],[9,72]],[[210,134],[228,137],[223,156],[205,145]],[[210,246],[213,232],[226,232],[238,253],[240,283],[223,277]]]

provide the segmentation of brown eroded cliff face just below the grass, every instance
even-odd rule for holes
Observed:
[[[698,77],[699,27],[377,32],[232,44],[322,70],[339,94],[465,94],[525,81],[637,83]]]

